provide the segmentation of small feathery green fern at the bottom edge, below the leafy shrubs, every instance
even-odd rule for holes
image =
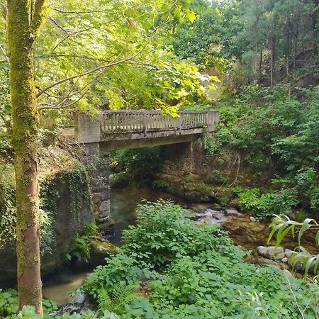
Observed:
[[[125,313],[125,306],[138,295],[136,289],[136,286],[127,285],[125,281],[115,284],[113,291],[101,289],[98,300],[99,310],[101,313],[105,310],[117,314]]]

